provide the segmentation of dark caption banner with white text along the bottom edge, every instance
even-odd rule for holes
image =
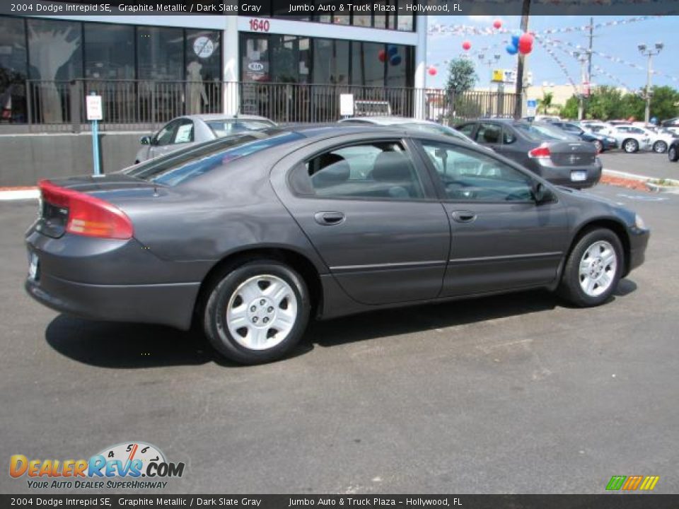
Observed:
[[[0,495],[1,508],[676,509],[677,495]]]

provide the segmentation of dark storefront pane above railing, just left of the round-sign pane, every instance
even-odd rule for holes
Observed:
[[[184,30],[182,28],[137,28],[137,78],[182,80],[184,78]]]

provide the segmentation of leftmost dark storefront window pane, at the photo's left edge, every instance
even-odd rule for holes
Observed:
[[[0,18],[0,122],[26,121],[26,33],[21,18]]]

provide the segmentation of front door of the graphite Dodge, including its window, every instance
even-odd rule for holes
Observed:
[[[566,249],[567,214],[536,204],[528,172],[461,146],[419,141],[451,224],[441,296],[547,285]]]

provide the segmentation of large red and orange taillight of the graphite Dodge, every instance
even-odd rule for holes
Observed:
[[[43,201],[69,209],[67,232],[87,237],[132,238],[132,221],[122,210],[107,201],[59,187],[49,180],[40,180],[38,186]]]

